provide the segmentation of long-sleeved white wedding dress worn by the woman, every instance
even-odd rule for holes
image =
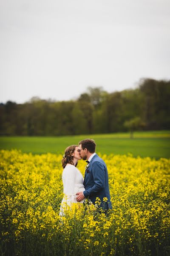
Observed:
[[[64,211],[66,206],[71,206],[71,203],[77,203],[77,192],[81,192],[85,190],[83,185],[83,176],[79,169],[77,169],[74,165],[68,163],[62,172],[62,182],[64,187],[64,197],[61,202],[59,215],[64,216]],[[80,201],[83,203],[85,199]]]

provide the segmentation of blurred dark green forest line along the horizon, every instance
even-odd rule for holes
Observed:
[[[78,99],[0,104],[0,135],[60,136],[170,129],[170,81],[141,79],[135,89],[88,87]]]

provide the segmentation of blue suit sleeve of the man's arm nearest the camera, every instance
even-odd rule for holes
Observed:
[[[96,194],[102,188],[105,187],[105,166],[102,163],[96,161],[93,163],[91,172],[95,184],[94,186],[83,192],[85,198],[87,198],[90,195]]]

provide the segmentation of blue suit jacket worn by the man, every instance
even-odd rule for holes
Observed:
[[[101,200],[100,207],[112,209],[108,170],[105,162],[97,154],[91,159],[88,169],[85,171],[84,186],[83,194],[85,198],[89,198],[95,204],[96,197],[99,197]],[[104,197],[108,198],[107,202],[103,201]]]

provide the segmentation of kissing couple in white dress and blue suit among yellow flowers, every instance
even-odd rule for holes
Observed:
[[[72,203],[83,203],[86,198],[95,204],[98,197],[101,201],[99,207],[104,210],[112,209],[107,166],[95,151],[96,143],[91,139],[81,140],[79,145],[71,145],[65,149],[62,158],[64,197],[60,206],[60,216],[64,216],[65,204],[71,206]],[[84,179],[76,167],[81,159],[87,162]],[[108,200],[104,202],[103,198]]]

